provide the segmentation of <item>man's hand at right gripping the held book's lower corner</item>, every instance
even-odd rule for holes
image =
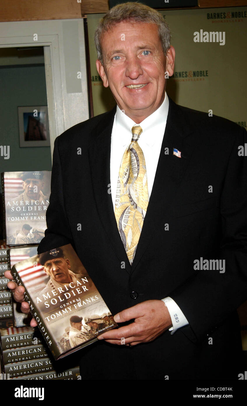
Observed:
[[[120,311],[114,316],[117,323],[135,319],[128,326],[107,331],[98,337],[107,343],[135,346],[148,343],[172,327],[172,320],[165,303],[162,300],[146,300],[129,309]],[[123,341],[123,338],[125,339]]]

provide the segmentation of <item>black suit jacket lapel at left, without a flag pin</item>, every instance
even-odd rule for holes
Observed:
[[[124,261],[125,270],[130,272],[131,266],[118,231],[110,193],[111,135],[115,112],[116,107],[107,113],[103,123],[101,121],[96,128],[89,148],[89,163],[99,218],[119,261]]]

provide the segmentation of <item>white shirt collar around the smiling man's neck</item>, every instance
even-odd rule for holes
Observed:
[[[121,140],[122,140],[122,145],[129,145],[131,139],[131,128],[133,125],[140,124],[142,127],[142,140],[145,142],[147,145],[152,146],[155,143],[155,137],[150,137],[150,133],[148,136],[148,132],[152,130],[152,132],[155,133],[155,127],[160,126],[161,123],[166,123],[167,116],[168,116],[168,109],[169,109],[169,100],[168,100],[168,95],[165,92],[165,98],[152,114],[150,116],[146,117],[141,123],[135,123],[130,117],[128,117],[120,108],[117,106],[116,109],[116,125],[125,130],[122,132]],[[127,131],[126,131],[127,130]]]

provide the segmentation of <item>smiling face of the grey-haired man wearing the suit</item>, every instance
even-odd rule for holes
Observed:
[[[121,110],[140,123],[157,110],[165,97],[165,71],[174,70],[174,48],[167,56],[156,24],[120,22],[101,40],[103,63],[98,72]],[[130,87],[138,85],[137,88]]]

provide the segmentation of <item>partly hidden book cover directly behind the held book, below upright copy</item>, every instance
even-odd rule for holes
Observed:
[[[19,261],[24,261],[24,259],[28,259],[37,255],[37,247],[38,245],[33,246],[26,246],[21,248],[10,248],[7,249],[7,259],[8,259],[8,269],[11,270],[12,266]],[[21,303],[15,302],[13,298],[13,314],[15,319],[15,326],[16,327],[23,327],[29,326],[30,321],[32,319],[32,315],[22,313],[21,311]]]

